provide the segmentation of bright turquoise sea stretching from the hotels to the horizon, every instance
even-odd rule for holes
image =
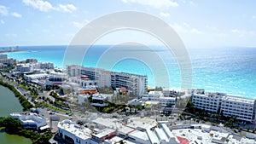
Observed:
[[[180,88],[180,67],[172,53],[156,46],[152,46],[154,52],[148,49],[137,51],[137,48],[131,47],[120,46],[113,49],[111,45],[92,46],[84,55],[82,64],[117,72],[148,75],[149,86]],[[63,45],[23,46],[20,47],[20,52],[8,55],[18,60],[35,58],[38,61],[51,61],[57,67],[65,67],[62,65],[66,49],[67,46]],[[188,51],[192,63],[193,88],[256,98],[256,48],[209,48]],[[79,53],[74,49],[66,55],[76,57]],[[76,60],[66,61],[70,64],[76,63]],[[167,76],[165,69],[168,72]]]

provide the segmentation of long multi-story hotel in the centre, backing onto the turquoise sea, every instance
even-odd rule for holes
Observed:
[[[125,87],[130,89],[135,95],[143,95],[147,92],[148,77],[126,72],[109,72],[104,69],[71,65],[67,66],[69,77],[86,75],[90,79],[97,81],[98,87]]]

